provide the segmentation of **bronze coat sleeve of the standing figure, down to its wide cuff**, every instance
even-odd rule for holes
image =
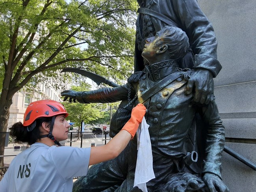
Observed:
[[[210,70],[216,77],[222,66],[217,60],[217,40],[213,26],[197,0],[173,0],[173,10],[182,30],[187,33],[195,54],[195,68]]]

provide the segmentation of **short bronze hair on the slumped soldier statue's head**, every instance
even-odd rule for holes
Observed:
[[[160,39],[155,46],[166,44],[171,59],[179,59],[189,50],[189,39],[184,31],[176,26],[165,26],[159,32]]]

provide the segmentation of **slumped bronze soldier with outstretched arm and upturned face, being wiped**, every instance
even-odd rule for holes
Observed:
[[[147,183],[148,191],[228,192],[221,180],[224,127],[217,106],[214,100],[200,105],[193,102],[194,94],[185,94],[187,80],[181,77],[189,79],[193,74],[191,70],[180,69],[178,64],[189,50],[186,33],[175,26],[166,26],[146,42],[142,56],[148,65],[142,72],[132,75],[128,79],[130,83],[89,92],[66,90],[62,95],[90,103],[116,102],[127,98],[129,91],[132,95],[137,93],[137,102],[143,102],[148,109],[145,117],[150,125],[148,130],[156,176]],[[196,114],[200,114],[205,123],[201,168],[188,162],[193,148],[189,146],[190,131]],[[92,167],[88,177],[74,183],[73,191],[136,191],[133,188],[136,149],[137,140],[134,139],[119,157]]]

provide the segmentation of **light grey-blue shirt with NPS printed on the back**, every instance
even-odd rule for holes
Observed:
[[[72,192],[73,177],[84,176],[91,148],[35,143],[11,162],[0,192]]]

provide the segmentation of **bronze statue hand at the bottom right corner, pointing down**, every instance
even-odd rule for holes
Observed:
[[[217,175],[206,173],[203,179],[210,192],[229,192],[228,187]]]

